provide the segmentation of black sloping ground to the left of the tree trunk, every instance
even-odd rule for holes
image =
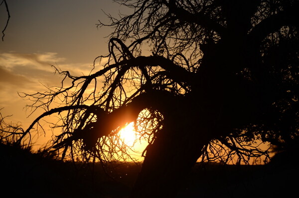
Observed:
[[[2,194],[10,197],[119,198],[129,195],[140,166],[111,167],[108,177],[99,164],[62,162],[29,149],[0,144]],[[114,170],[114,171],[112,171]],[[114,178],[114,179],[113,179]]]

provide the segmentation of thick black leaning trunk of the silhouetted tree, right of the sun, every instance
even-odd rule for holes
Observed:
[[[167,115],[163,128],[147,148],[131,198],[175,197],[203,146],[215,136],[210,116],[202,116],[204,112],[198,110],[194,101],[186,98],[172,106],[169,114],[164,113]]]

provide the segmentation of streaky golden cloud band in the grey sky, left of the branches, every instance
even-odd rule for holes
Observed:
[[[65,58],[53,52],[0,53],[0,63],[0,68],[5,75],[13,76],[11,79],[3,78],[1,82],[11,85],[20,82],[57,85],[60,83],[60,78],[59,74],[54,75],[55,68],[52,65],[63,71],[70,71],[74,76],[88,75],[92,69],[90,64],[65,63]],[[4,73],[1,75],[3,76]]]

